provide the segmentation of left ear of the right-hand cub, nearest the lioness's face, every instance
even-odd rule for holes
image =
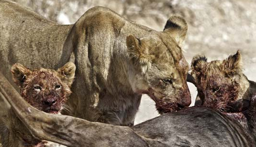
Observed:
[[[207,63],[207,58],[204,55],[198,54],[195,55],[191,62],[191,73],[196,73],[196,76],[199,76]],[[195,77],[194,77],[195,78]]]

